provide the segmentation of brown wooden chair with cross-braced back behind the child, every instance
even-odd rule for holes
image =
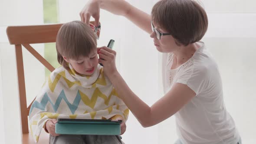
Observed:
[[[94,25],[94,22],[90,22]],[[37,26],[8,26],[7,36],[9,43],[15,45],[16,51],[16,67],[18,75],[18,89],[20,98],[20,117],[22,126],[22,143],[23,144],[34,144],[34,140],[31,134],[29,134],[28,128],[28,115],[30,111],[30,105],[26,105],[26,88],[23,68],[23,55],[22,46],[24,46],[33,56],[36,57],[47,69],[51,72],[55,69],[46,59],[43,58],[30,44],[33,43],[53,43],[56,42],[56,36],[59,28],[62,24],[52,25],[37,25]],[[99,36],[100,31],[97,32]],[[48,144],[49,134],[42,130],[38,144]]]

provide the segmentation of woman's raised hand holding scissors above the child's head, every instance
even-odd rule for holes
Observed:
[[[92,16],[95,19],[95,26],[98,26],[100,12],[99,4],[99,0],[89,0],[79,13],[81,21],[89,24],[90,17]]]

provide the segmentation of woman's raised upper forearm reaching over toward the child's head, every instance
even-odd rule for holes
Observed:
[[[116,15],[125,16],[132,23],[143,29],[147,33],[152,33],[151,16],[136,7],[133,7],[125,0],[99,0],[100,8]]]

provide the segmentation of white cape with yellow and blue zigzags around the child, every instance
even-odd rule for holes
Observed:
[[[31,105],[29,128],[36,142],[50,118],[128,118],[129,110],[102,66],[98,65],[91,76],[77,74],[70,64],[69,68],[55,69]]]

